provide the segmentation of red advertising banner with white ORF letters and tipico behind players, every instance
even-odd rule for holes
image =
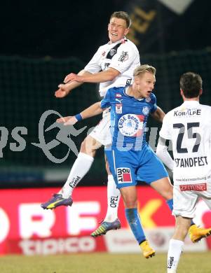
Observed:
[[[74,190],[72,207],[43,210],[45,202],[58,188],[1,190],[0,254],[53,254],[107,251],[104,237],[90,237],[107,211],[106,187],[80,187]],[[139,214],[145,229],[172,227],[175,218],[165,200],[149,186],[138,187]],[[200,209],[200,211],[202,211]],[[128,229],[123,202],[118,218]],[[209,211],[200,219],[210,223]]]

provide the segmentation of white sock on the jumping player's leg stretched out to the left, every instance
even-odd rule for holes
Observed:
[[[76,188],[79,181],[81,181],[83,176],[88,173],[93,164],[93,160],[94,158],[92,156],[87,155],[86,153],[79,153],[78,158],[76,158],[76,161],[72,166],[67,181],[59,192],[62,194],[62,197],[68,198],[72,195],[72,192],[74,188]]]

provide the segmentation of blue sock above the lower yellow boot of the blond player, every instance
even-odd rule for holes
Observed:
[[[128,220],[128,224],[130,225],[132,233],[135,236],[135,239],[137,239],[137,242],[141,244],[142,241],[146,240],[146,237],[144,235],[144,230],[142,229],[142,224],[137,213],[137,208],[125,209],[125,216]]]

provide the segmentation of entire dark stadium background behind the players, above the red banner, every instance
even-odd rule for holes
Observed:
[[[76,156],[70,153],[65,162],[56,164],[31,143],[39,142],[38,124],[44,111],[53,109],[67,116],[99,99],[97,86],[91,84],[84,84],[65,99],[55,99],[53,94],[67,73],[82,69],[97,48],[107,43],[107,24],[115,10],[128,11],[136,18],[135,10],[144,10],[145,15],[154,10],[151,20],[138,18],[140,25],[147,27],[135,29],[133,34],[142,64],[158,69],[156,96],[164,111],[182,102],[179,76],[188,70],[203,77],[202,102],[210,104],[210,1],[195,0],[180,15],[156,0],[4,1],[0,8],[0,120],[1,127],[8,130],[8,141],[0,158],[1,188],[56,186],[64,182]],[[93,127],[99,119],[76,127]],[[53,117],[48,122],[51,125]],[[16,126],[27,127],[27,134],[22,136],[27,143],[25,151],[11,151],[11,132]],[[149,126],[157,124],[149,120]],[[74,138],[78,148],[86,132]],[[52,130],[46,139],[50,141],[56,134]],[[58,157],[66,152],[64,144],[53,151]],[[85,179],[86,185],[107,181],[102,149]]]

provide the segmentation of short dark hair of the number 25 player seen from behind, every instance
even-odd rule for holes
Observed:
[[[198,97],[202,90],[202,78],[196,73],[187,72],[180,77],[179,85],[187,99]]]

